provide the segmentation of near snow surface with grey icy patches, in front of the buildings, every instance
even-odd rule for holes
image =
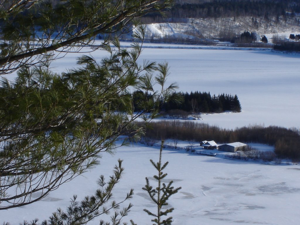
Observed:
[[[157,162],[158,153],[158,147],[141,144],[120,147],[115,155],[104,154],[101,165],[61,185],[45,199],[0,211],[1,221],[18,224],[36,217],[46,219],[56,208],[65,209],[73,194],[77,194],[78,199],[93,194],[99,175],[104,174],[108,179],[113,165],[121,158],[125,172],[115,189],[114,200],[123,199],[134,188],[135,194],[130,200],[134,206],[125,221],[133,219],[137,224],[151,224],[151,217],[143,209],[154,211],[155,205],[142,187],[146,176],[155,185],[152,176],[156,171],[149,160]],[[173,225],[298,224],[299,165],[229,160],[220,155],[210,157],[175,149],[164,149],[163,161],[169,161],[164,182],[173,180],[174,187],[182,187],[169,200],[169,206],[175,208],[170,214]],[[99,219],[89,224],[98,224]]]

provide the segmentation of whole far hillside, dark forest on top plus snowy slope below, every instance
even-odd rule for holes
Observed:
[[[140,18],[147,26],[146,39],[201,44],[203,39],[230,41],[244,31],[260,37],[300,31],[300,3],[293,0],[174,0],[173,3],[164,16],[153,12]]]

